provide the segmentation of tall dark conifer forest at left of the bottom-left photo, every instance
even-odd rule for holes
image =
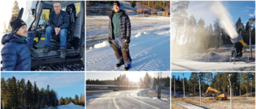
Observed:
[[[43,108],[58,106],[57,93],[47,85],[46,90],[38,89],[36,82],[34,86],[27,80],[16,80],[13,76],[5,80],[1,78],[1,107],[4,108]]]

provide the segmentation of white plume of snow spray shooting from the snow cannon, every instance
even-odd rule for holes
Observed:
[[[222,6],[221,2],[214,2],[213,6],[210,9],[218,16],[218,19],[221,22],[226,33],[230,36],[231,39],[238,37],[238,33],[235,30],[233,23],[231,22],[230,14],[226,11],[225,7]]]

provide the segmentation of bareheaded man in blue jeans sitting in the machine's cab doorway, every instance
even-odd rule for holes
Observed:
[[[70,24],[68,14],[65,11],[62,11],[62,5],[60,2],[54,2],[54,12],[51,12],[49,15],[49,25],[46,28],[46,46],[43,53],[50,53],[50,37],[52,33],[56,35],[59,34],[60,37],[60,49],[61,49],[61,58],[66,58],[66,33],[67,27]]]

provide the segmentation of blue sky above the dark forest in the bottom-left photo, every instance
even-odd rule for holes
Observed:
[[[85,73],[84,72],[1,72],[1,78],[5,80],[14,76],[16,80],[22,78],[36,82],[39,90],[46,89],[49,84],[50,89],[57,91],[58,99],[61,97],[71,97],[85,94]]]

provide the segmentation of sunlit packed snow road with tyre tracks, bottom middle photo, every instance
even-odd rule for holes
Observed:
[[[86,109],[170,109],[158,99],[138,96],[140,90],[112,91],[86,104]]]

